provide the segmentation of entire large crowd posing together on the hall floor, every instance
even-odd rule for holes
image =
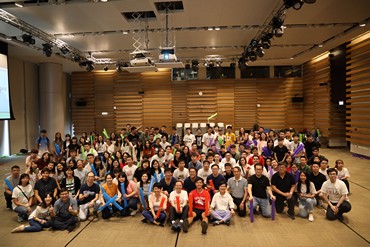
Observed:
[[[303,140],[302,138],[306,139]],[[314,221],[314,208],[327,205],[329,220],[351,210],[349,172],[342,160],[328,168],[320,145],[307,133],[255,128],[238,131],[207,126],[180,136],[176,128],[127,125],[102,135],[42,130],[25,165],[13,166],[4,181],[6,206],[28,221],[12,232],[52,227],[75,229],[89,216],[109,219],[141,212],[143,223],[188,232],[200,220],[230,225],[232,217],[261,214]],[[21,173],[21,170],[24,172]]]

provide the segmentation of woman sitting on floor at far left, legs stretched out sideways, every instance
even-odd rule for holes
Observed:
[[[53,198],[51,193],[46,193],[45,197],[42,199],[42,203],[36,207],[36,209],[28,217],[29,226],[20,225],[12,230],[12,233],[15,232],[39,232],[43,228],[49,228],[50,221],[49,216],[50,212],[53,211],[52,205]]]

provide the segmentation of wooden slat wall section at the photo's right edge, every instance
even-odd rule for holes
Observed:
[[[370,33],[347,45],[347,141],[370,147]]]

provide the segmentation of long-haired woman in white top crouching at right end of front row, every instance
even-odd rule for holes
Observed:
[[[313,206],[316,205],[316,189],[315,185],[308,180],[308,174],[301,172],[296,186],[296,192],[299,198],[299,216],[306,218],[308,215],[309,221],[314,221]]]

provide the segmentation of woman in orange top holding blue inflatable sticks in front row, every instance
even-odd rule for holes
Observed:
[[[121,192],[118,190],[117,184],[113,183],[113,177],[111,174],[107,174],[105,176],[105,184],[103,184],[102,189],[100,190],[100,203],[101,205],[104,205],[106,203],[106,199],[104,198],[104,193],[106,193],[110,198],[114,197],[117,195],[117,198],[119,201],[122,197]],[[121,199],[122,200],[122,199]],[[113,209],[113,212],[120,211],[120,214],[124,216],[124,210],[119,210],[114,206],[114,204],[110,205]],[[110,212],[109,207],[105,207],[102,211],[102,217],[103,219],[109,219],[112,217],[112,213]]]

